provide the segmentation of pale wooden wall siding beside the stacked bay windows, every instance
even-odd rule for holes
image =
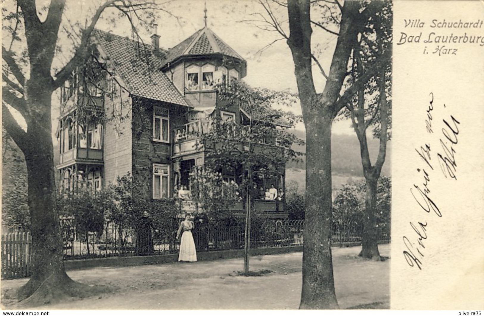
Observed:
[[[122,112],[121,111],[122,99]],[[110,100],[109,100],[110,101]],[[132,170],[132,100],[125,92],[121,94],[114,102],[106,102],[106,114],[113,113],[113,107],[116,113],[126,115],[129,111],[129,117],[121,123],[118,120],[108,120],[106,122],[104,135],[104,183],[109,185],[116,181],[118,176],[122,177]]]

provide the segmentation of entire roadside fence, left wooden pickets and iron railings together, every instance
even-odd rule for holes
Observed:
[[[79,234],[72,218],[61,219],[64,256],[66,260],[110,256],[147,256],[177,254],[178,220],[166,225],[121,226],[106,223],[99,233]],[[197,252],[236,250],[244,248],[244,221],[229,224],[196,225],[193,236]],[[251,248],[297,246],[303,244],[304,220],[255,218],[251,224]],[[333,245],[360,242],[363,226],[355,222],[333,223]],[[389,227],[379,231],[380,240],[389,240]],[[2,277],[30,275],[31,237],[27,233],[2,236]]]

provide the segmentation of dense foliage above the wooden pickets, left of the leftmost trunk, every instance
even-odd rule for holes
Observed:
[[[25,159],[6,131],[2,133],[2,170],[2,223],[12,229],[28,231],[30,213]]]

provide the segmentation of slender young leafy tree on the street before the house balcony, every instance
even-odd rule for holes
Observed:
[[[283,171],[286,162],[300,154],[291,148],[292,144],[303,142],[287,131],[298,117],[271,106],[292,104],[287,93],[253,89],[240,81],[219,87],[218,97],[222,109],[239,106],[248,116],[240,124],[217,117],[211,131],[201,135],[201,143],[208,150],[206,166],[212,170],[242,166],[239,186],[245,199],[244,274],[248,275],[255,180]]]

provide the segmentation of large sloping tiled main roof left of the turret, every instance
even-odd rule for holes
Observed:
[[[151,45],[101,30],[94,30],[93,35],[131,94],[189,106],[173,83],[160,71],[166,61],[166,51],[155,52]]]

